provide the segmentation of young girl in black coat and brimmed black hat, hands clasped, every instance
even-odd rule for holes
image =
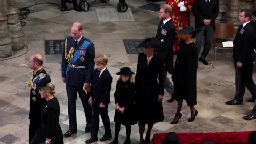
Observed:
[[[119,80],[116,83],[115,91],[115,104],[116,111],[114,116],[115,124],[115,139],[110,144],[118,143],[118,135],[120,132],[121,124],[126,128],[126,139],[124,144],[130,144],[131,125],[137,124],[136,118],[133,116],[134,112],[134,94],[135,84],[132,79],[132,75],[135,74],[128,67],[123,67],[120,72],[116,73],[120,75]]]

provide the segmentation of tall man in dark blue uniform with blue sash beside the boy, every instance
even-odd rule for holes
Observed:
[[[65,51],[62,54],[61,76],[66,83],[68,96],[69,130],[64,137],[76,133],[76,99],[77,92],[84,107],[86,117],[85,132],[91,131],[91,106],[87,94],[94,71],[95,48],[90,39],[82,36],[82,25],[75,22],[71,27],[71,36],[65,39]]]

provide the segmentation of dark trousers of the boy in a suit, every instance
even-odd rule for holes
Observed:
[[[104,125],[105,134],[111,134],[110,120],[108,116],[108,105],[105,108],[99,107],[98,104],[94,104],[92,101],[92,126],[91,126],[91,137],[98,138],[98,130],[100,125],[100,117]]]

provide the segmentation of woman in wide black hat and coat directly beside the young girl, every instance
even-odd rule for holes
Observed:
[[[161,44],[155,38],[146,38],[137,47],[143,47],[143,52],[138,56],[136,85],[136,112],[139,122],[140,144],[149,143],[151,129],[156,122],[164,120],[162,100],[164,95],[164,64],[153,52]],[[157,80],[157,76],[159,78]],[[145,141],[143,133],[145,124],[148,124]]]

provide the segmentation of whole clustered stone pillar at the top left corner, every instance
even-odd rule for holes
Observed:
[[[16,0],[0,0],[0,58],[24,48],[25,36],[21,31]]]

